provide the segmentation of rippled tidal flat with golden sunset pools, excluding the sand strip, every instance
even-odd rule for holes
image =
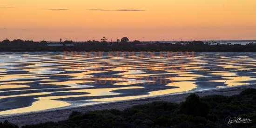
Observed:
[[[86,60],[63,59],[62,54],[39,52],[2,55],[1,59],[5,61],[0,65],[1,104],[8,107],[10,102],[17,99],[27,99],[29,103],[24,106],[13,104],[18,107],[13,109],[11,105],[12,108],[2,110],[0,115],[240,86],[256,81],[253,77],[256,73],[253,71],[255,62],[248,61],[254,58],[254,54],[250,53],[243,56],[235,53],[221,56],[195,53],[195,58],[190,60],[155,59],[159,58],[159,53],[155,58],[149,56],[144,59],[108,59],[105,53],[101,59]],[[135,55],[139,56],[139,53]],[[22,59],[17,61],[17,58]],[[232,58],[236,58],[236,61]],[[76,63],[80,63],[81,68],[72,67]],[[181,63],[186,64],[183,66],[186,69],[182,71],[178,65]],[[110,64],[110,68],[107,66],[104,70],[104,64]],[[112,68],[112,64],[115,67]],[[126,64],[127,67],[121,66]],[[151,64],[152,68],[148,68],[147,64]],[[177,70],[167,70],[172,64],[177,64]]]

